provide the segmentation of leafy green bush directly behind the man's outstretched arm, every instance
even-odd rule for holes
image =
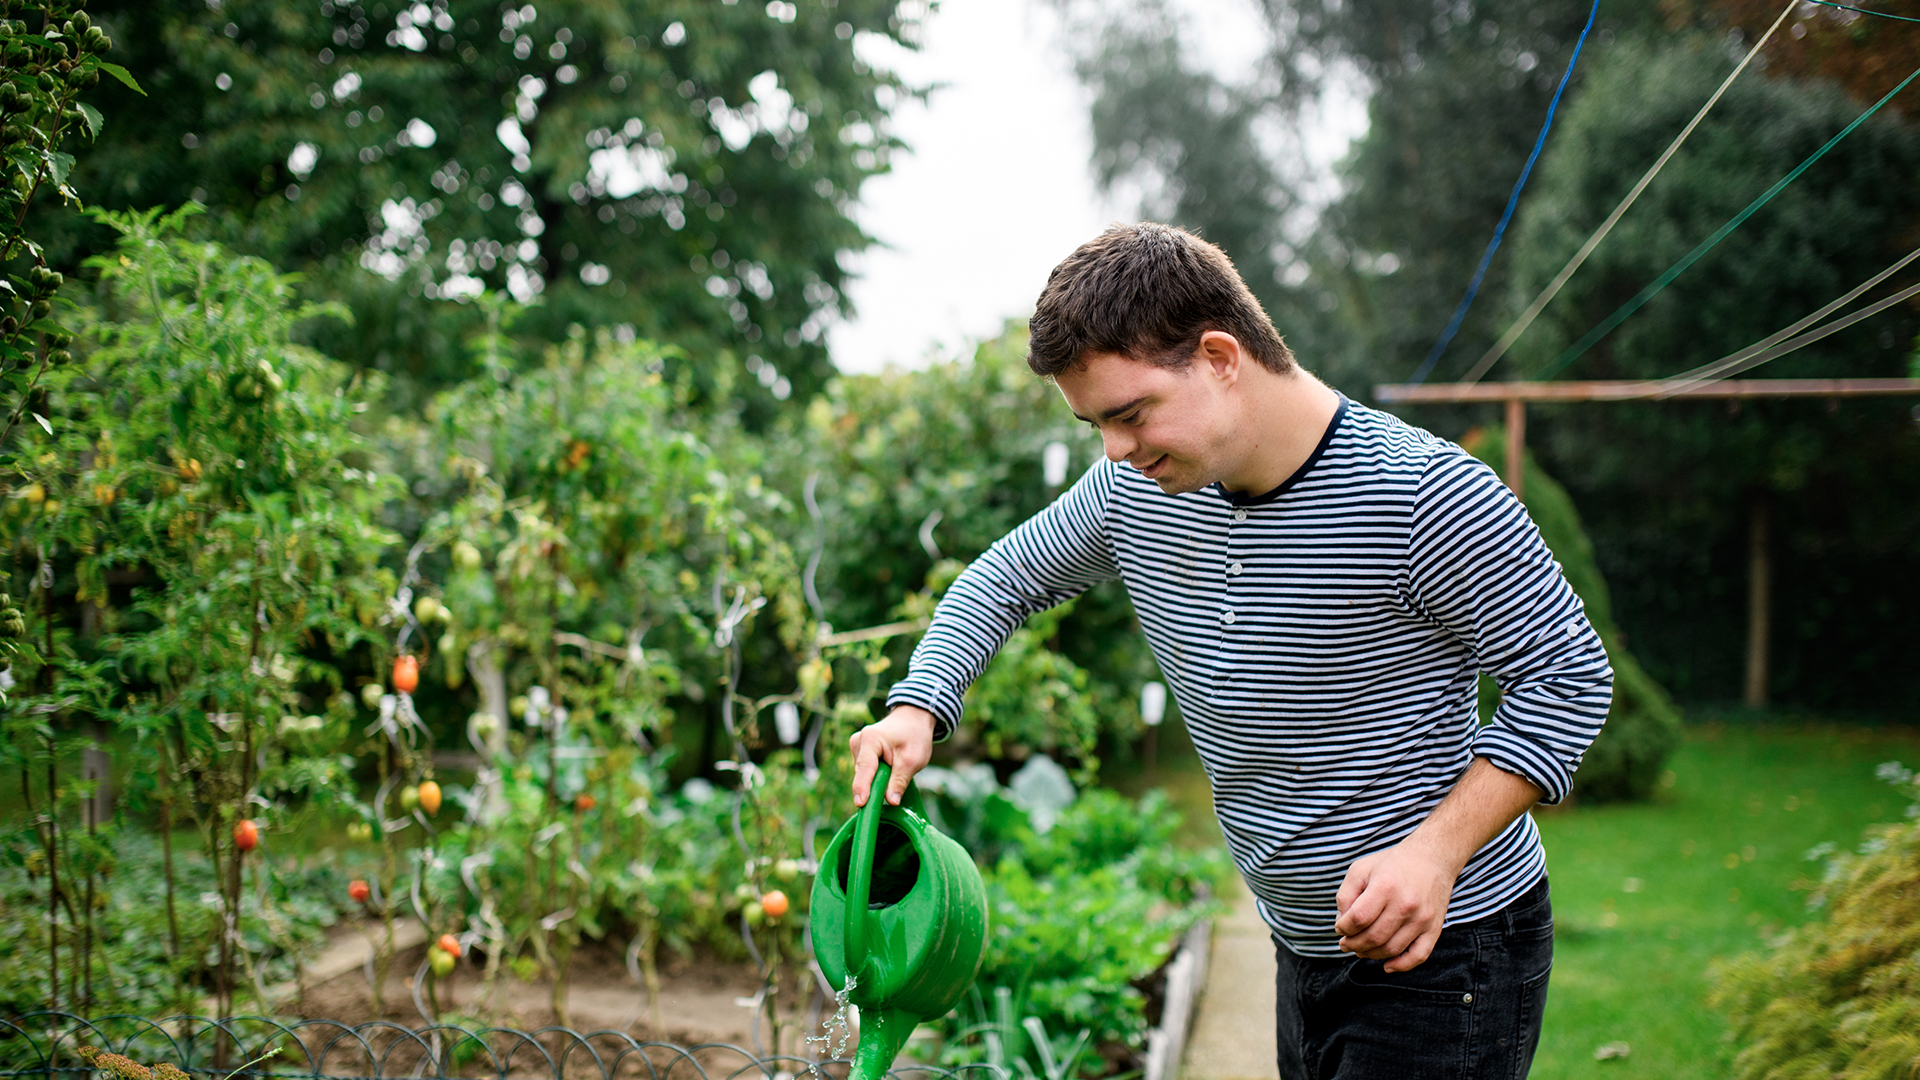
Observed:
[[[793,544],[818,544],[814,580],[831,623],[931,615],[962,565],[950,559],[973,559],[1060,494],[1041,473],[1048,442],[1069,448],[1068,482],[1098,459],[1098,438],[1033,377],[1025,346],[1025,331],[1008,327],[962,361],[841,377],[808,404],[804,427],[770,440],[772,484],[806,490],[816,477],[818,532],[797,523]],[[904,650],[891,655],[904,661]],[[1092,767],[1096,736],[1125,746],[1140,732],[1135,703],[1156,673],[1125,590],[1106,584],[1014,632],[956,738],[985,740],[995,757],[1060,748]]]

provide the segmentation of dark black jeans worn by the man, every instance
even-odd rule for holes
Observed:
[[[1283,1080],[1523,1080],[1553,969],[1548,882],[1440,932],[1427,963],[1300,957],[1275,942]]]

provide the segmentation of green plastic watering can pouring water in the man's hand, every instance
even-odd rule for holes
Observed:
[[[987,957],[987,886],[973,857],[920,813],[887,805],[891,776],[883,761],[814,878],[814,957],[860,1007],[849,1080],[885,1076],[922,1020],[960,1003]]]

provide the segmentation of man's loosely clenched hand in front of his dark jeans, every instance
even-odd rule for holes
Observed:
[[[1457,876],[1459,867],[1413,838],[1356,861],[1334,897],[1340,949],[1386,961],[1388,972],[1421,967],[1440,940]]]

